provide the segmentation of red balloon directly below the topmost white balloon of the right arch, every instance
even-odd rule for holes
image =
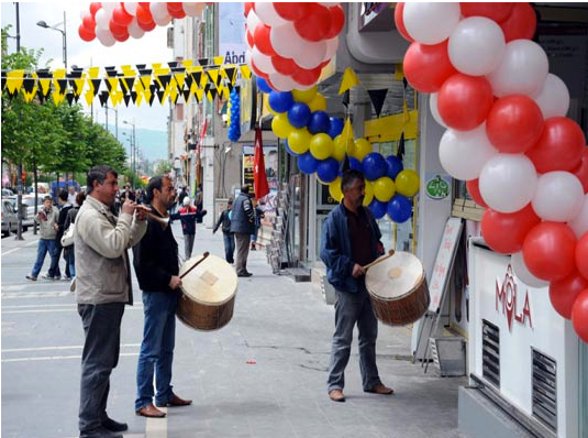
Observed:
[[[419,91],[437,92],[456,73],[447,55],[447,40],[435,45],[413,42],[404,54],[404,76]]]

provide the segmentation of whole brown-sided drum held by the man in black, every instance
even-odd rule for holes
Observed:
[[[182,276],[202,260],[197,255],[180,267]],[[218,330],[233,317],[237,278],[233,267],[215,255],[209,255],[181,278],[177,316],[197,330]]]

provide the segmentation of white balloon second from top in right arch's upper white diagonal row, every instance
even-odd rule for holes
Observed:
[[[484,76],[502,59],[507,43],[500,26],[485,17],[462,20],[450,36],[447,53],[457,70]]]

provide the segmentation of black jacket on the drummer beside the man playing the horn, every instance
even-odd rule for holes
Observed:
[[[154,215],[160,216],[149,206]],[[178,243],[171,227],[147,218],[147,232],[133,247],[133,266],[143,292],[177,292],[169,288],[169,280],[178,275]],[[179,293],[179,292],[178,292]]]

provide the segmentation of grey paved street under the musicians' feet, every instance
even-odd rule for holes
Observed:
[[[179,223],[174,233],[184,253]],[[84,332],[69,282],[30,282],[37,237],[1,241],[2,436],[78,436]],[[193,254],[223,256],[222,236],[200,226]],[[48,267],[48,258],[42,272]],[[63,267],[63,261],[60,263]],[[141,292],[126,307],[121,355],[111,376],[108,413],[129,423],[125,437],[462,437],[457,387],[465,379],[423,373],[410,358],[410,330],[379,326],[378,366],[396,394],[362,391],[356,340],[346,369],[346,403],[326,395],[334,309],[312,283],[271,274],[265,251],[249,253],[249,278],[240,278],[233,319],[221,330],[177,322],[174,391],[192,398],[167,408],[165,419],[134,413],[142,339]],[[99,273],[97,273],[99,274]]]

